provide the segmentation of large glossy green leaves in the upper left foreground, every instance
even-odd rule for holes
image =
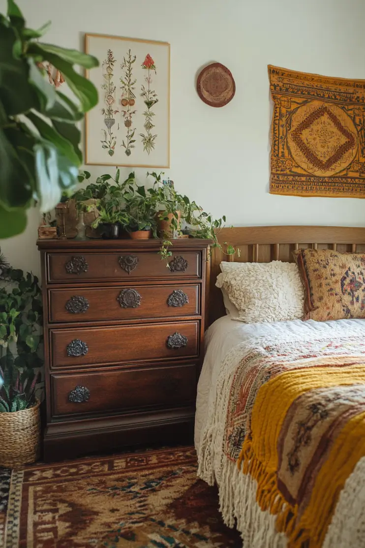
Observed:
[[[39,42],[48,28],[27,28],[14,0],[0,14],[0,238],[25,230],[26,209],[38,203],[48,212],[75,184],[82,164],[76,124],[98,102],[92,82],[73,68],[98,60]],[[44,63],[62,73],[78,104],[48,82]]]

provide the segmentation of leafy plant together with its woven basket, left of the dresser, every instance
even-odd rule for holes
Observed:
[[[22,466],[39,452],[39,356],[42,299],[36,276],[13,269],[0,254],[0,444],[1,466]]]

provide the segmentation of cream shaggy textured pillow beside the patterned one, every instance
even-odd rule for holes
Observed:
[[[304,289],[294,262],[225,262],[221,270],[216,286],[237,307],[235,319],[261,323],[303,316]]]

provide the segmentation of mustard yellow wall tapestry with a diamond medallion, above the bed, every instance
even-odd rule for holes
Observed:
[[[365,80],[269,65],[271,194],[365,198]]]

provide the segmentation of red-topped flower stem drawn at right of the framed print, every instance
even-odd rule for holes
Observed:
[[[155,116],[155,112],[153,112],[151,109],[153,105],[156,105],[156,103],[158,102],[155,90],[151,89],[151,72],[154,71],[155,74],[157,74],[156,65],[155,61],[153,61],[149,53],[147,53],[145,60],[142,62],[142,68],[144,68],[148,72],[147,76],[145,77],[146,86],[144,84],[141,85],[140,94],[141,97],[144,98],[144,104],[146,105],[146,110],[143,113],[145,117],[145,123],[143,125],[146,133],[140,133],[140,136],[142,138],[143,150],[149,155],[151,150],[155,148],[155,141],[157,138],[157,135],[153,135],[151,132],[152,128],[155,127],[155,124],[153,124],[153,116]]]

